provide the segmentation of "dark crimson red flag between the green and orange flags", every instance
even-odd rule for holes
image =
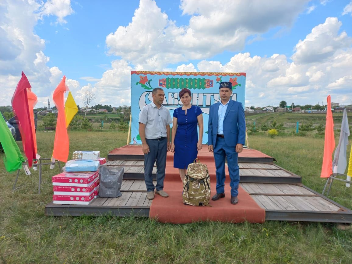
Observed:
[[[31,115],[28,106],[27,88],[31,88],[26,75],[22,72],[21,80],[18,82],[16,90],[12,96],[12,108],[19,121],[20,133],[22,137],[23,149],[31,167],[33,159],[36,158],[34,140],[31,124]]]

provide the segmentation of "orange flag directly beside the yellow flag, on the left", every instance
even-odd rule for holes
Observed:
[[[64,76],[56,87],[52,99],[54,100],[55,106],[58,110],[55,140],[54,140],[54,151],[52,152],[52,160],[57,159],[58,161],[67,162],[69,153],[69,138],[66,129],[66,116],[65,116],[65,105],[64,105],[64,94],[68,91],[68,87],[65,84],[66,76]]]

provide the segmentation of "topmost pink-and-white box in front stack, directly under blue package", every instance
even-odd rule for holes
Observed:
[[[52,176],[52,185],[88,187],[95,178],[99,177],[99,171],[92,172],[61,172]]]

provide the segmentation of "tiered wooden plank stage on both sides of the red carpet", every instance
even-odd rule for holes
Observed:
[[[45,206],[45,215],[149,217],[152,201],[146,199],[144,161],[140,159],[142,155],[128,158],[126,155],[109,154],[107,162],[108,166],[125,167],[121,197],[98,197],[90,205],[56,205],[51,202]],[[240,186],[265,209],[266,221],[352,223],[350,209],[304,186],[300,176],[274,164],[274,158],[249,156],[255,155],[246,155],[239,162]]]

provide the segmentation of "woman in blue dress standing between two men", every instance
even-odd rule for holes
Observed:
[[[198,151],[202,149],[203,112],[199,106],[191,105],[192,97],[189,89],[183,88],[179,96],[183,106],[174,111],[171,152],[174,153],[174,168],[178,168],[183,181],[188,164],[197,158]]]

